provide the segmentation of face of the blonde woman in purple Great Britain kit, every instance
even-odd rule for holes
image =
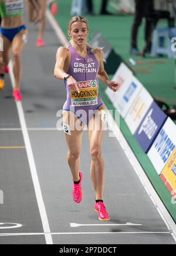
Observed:
[[[87,42],[88,34],[89,30],[84,22],[74,22],[69,32],[69,36],[72,38],[73,42],[80,46]]]

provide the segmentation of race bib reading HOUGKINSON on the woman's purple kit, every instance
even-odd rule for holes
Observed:
[[[93,106],[98,104],[98,86],[96,80],[78,82],[80,93],[71,90],[72,106]]]

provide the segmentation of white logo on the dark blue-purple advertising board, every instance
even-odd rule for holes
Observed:
[[[138,134],[140,135],[142,132],[146,134],[149,140],[151,140],[158,129],[157,124],[152,119],[151,115],[153,114],[153,109],[147,114]]]

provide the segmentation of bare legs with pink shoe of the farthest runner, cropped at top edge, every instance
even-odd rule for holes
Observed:
[[[46,26],[46,3],[47,0],[35,0],[36,4],[38,5],[40,12],[43,16],[42,21],[40,21],[39,23],[39,32],[38,32],[38,40],[36,42],[36,46],[38,47],[43,47],[45,46],[45,42],[43,41],[43,37],[44,37],[44,33],[45,33],[45,26]],[[32,5],[31,1],[28,0],[27,1],[27,8],[28,8],[28,19],[29,22],[33,22],[35,20],[36,17],[36,9],[34,8],[34,6]]]

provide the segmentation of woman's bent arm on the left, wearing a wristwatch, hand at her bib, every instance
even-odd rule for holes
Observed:
[[[64,80],[64,77],[67,74],[65,71],[65,63],[66,63],[66,60],[69,58],[69,54],[70,54],[70,50],[67,47],[60,47],[57,50],[56,65],[55,65],[55,72],[54,72],[55,78]],[[77,92],[79,92],[79,87],[77,86],[77,82],[72,76],[70,76],[67,79],[67,86],[70,88],[70,90],[77,90]]]

